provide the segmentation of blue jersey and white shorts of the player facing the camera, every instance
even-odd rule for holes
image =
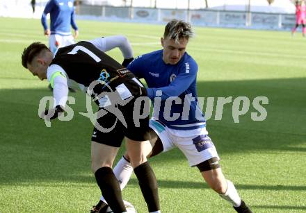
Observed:
[[[163,50],[154,51],[138,56],[127,68],[147,83],[154,105],[150,127],[161,138],[163,151],[177,146],[191,167],[218,157],[197,104],[198,65],[188,53],[176,65],[169,65],[163,62]]]

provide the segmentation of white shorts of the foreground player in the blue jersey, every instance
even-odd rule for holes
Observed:
[[[154,119],[150,119],[150,128],[161,139],[163,152],[175,147],[179,148],[186,156],[190,167],[195,167],[201,162],[211,159],[211,157],[218,157],[218,160],[220,160],[206,128],[174,130]]]

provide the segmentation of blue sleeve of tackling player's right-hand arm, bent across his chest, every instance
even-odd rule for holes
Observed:
[[[190,87],[193,80],[195,80],[197,73],[198,65],[194,60],[191,60],[182,66],[179,74],[170,85],[159,88],[147,88],[147,96],[151,100],[154,100],[156,91],[162,92],[161,100],[166,100],[170,96],[179,96]]]

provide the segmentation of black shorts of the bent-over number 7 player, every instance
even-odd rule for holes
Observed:
[[[134,98],[126,105],[118,105],[117,112],[122,114],[118,117],[118,113],[108,112],[108,108],[99,108],[107,114],[97,119],[95,128],[92,133],[92,141],[109,146],[120,147],[122,140],[125,137],[135,141],[145,141],[150,139],[149,116],[138,119],[139,122],[134,122],[134,103],[139,96],[147,97],[147,92],[144,87],[137,88],[140,92],[133,92]],[[144,108],[150,109],[150,104],[141,104],[140,114]],[[122,123],[125,121],[126,126]],[[99,125],[100,127],[97,127]]]

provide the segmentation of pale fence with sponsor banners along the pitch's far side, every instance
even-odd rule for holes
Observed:
[[[40,1],[32,14],[30,1],[6,1],[0,4],[0,17],[40,18],[45,2]],[[160,8],[129,8],[111,6],[76,7],[77,19],[95,19],[110,22],[166,23],[170,19],[183,19],[197,26],[289,30],[295,24],[295,15],[225,10],[175,10]]]

